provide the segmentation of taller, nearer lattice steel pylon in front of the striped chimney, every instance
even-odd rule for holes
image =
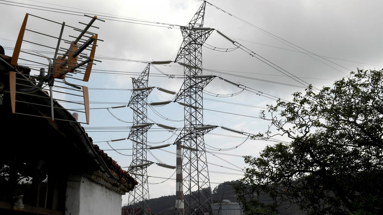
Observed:
[[[180,27],[183,42],[175,59],[184,66],[185,75],[175,98],[175,101],[183,101],[180,104],[185,106],[185,125],[175,141],[183,148],[183,178],[177,180],[175,205],[181,215],[211,213],[211,188],[203,135],[217,126],[203,124],[202,90],[215,77],[202,75],[201,70],[202,45],[214,30],[203,27],[205,6],[206,2],[203,2],[190,23]]]

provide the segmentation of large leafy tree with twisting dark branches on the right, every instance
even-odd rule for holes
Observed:
[[[310,85],[293,102],[268,105],[260,114],[271,117],[268,131],[253,138],[291,141],[245,157],[250,168],[234,186],[244,209],[288,202],[308,214],[383,214],[382,78],[382,70],[358,69],[333,88]]]

